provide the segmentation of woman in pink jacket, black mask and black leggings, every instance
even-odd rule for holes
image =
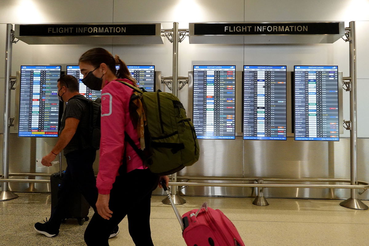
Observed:
[[[116,71],[115,65],[120,64]],[[137,86],[125,63],[103,48],[86,51],[79,59],[82,82],[92,90],[101,90],[100,166],[97,175],[98,214],[94,214],[85,232],[88,246],[108,244],[110,232],[127,215],[128,228],[137,246],[153,245],[150,230],[150,200],[159,177],[142,163],[127,144],[124,132],[140,148],[137,131],[128,106],[133,90],[120,83]],[[160,180],[168,177],[160,177]]]

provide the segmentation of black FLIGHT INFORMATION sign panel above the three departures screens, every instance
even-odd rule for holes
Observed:
[[[339,34],[339,22],[195,23],[194,35]]]

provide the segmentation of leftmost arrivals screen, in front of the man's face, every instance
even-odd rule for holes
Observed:
[[[57,137],[61,66],[21,66],[20,137]]]

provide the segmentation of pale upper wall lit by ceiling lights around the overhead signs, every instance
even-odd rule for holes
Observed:
[[[273,3],[273,4],[272,4]],[[221,21],[351,21],[357,25],[358,136],[369,137],[367,91],[369,91],[369,0],[3,0],[0,23],[76,22],[161,22],[163,28],[188,28],[189,22]],[[346,22],[346,26],[348,23]],[[1,35],[1,34],[0,34]],[[0,47],[4,37],[0,36]],[[103,46],[117,53],[127,64],[152,64],[163,76],[172,73],[172,45]],[[21,65],[72,65],[89,45],[27,45],[18,42],[13,49],[13,75]],[[0,66],[3,67],[1,55]],[[242,70],[255,65],[338,65],[348,76],[348,43],[314,45],[179,45],[179,75],[186,76],[193,65],[230,64]],[[3,69],[0,67],[0,83]],[[0,84],[0,90],[3,84]],[[163,87],[162,87],[163,88]],[[1,93],[0,93],[1,94]],[[187,87],[179,91],[186,105]],[[344,118],[349,119],[349,94],[344,93]],[[0,96],[0,113],[3,100]],[[1,114],[3,117],[3,114]],[[2,120],[1,120],[2,122]],[[345,131],[342,136],[349,136]]]

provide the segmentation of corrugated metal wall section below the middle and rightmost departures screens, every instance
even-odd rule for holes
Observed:
[[[369,139],[358,139],[358,177],[369,180]],[[350,139],[244,141],[246,178],[350,179]]]

